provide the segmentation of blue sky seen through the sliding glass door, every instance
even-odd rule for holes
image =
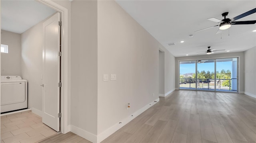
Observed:
[[[217,62],[216,63],[216,71],[221,71],[224,69],[225,71],[230,70],[232,72],[232,61],[228,62]],[[214,63],[200,63],[197,65],[197,70],[199,72],[201,71],[210,71],[214,72]],[[196,71],[196,64],[180,64],[180,74],[185,74],[185,73],[195,73]]]

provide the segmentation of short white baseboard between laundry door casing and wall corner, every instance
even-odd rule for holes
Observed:
[[[91,141],[92,143],[97,143],[97,135],[80,129],[79,127],[76,127],[74,125],[70,125],[70,131],[72,133],[75,133],[76,135],[79,135],[80,137],[83,137],[84,139],[87,139],[88,141]]]

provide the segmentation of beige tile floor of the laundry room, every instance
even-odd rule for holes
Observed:
[[[1,143],[36,143],[56,134],[31,110],[1,116]]]

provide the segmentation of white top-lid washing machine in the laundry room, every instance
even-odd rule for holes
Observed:
[[[1,76],[1,113],[27,108],[27,80],[20,76]]]

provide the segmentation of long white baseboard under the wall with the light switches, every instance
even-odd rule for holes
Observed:
[[[155,102],[156,101],[156,102]],[[151,106],[153,106],[154,104],[156,104],[157,102],[159,102],[159,98],[157,98],[156,100],[154,100],[153,102],[151,102],[150,104],[147,104],[146,106],[140,108],[138,111],[134,112],[133,114],[131,114],[130,116],[128,116],[127,118],[123,119],[121,121],[121,123],[116,123],[115,125],[113,125],[112,127],[106,129],[105,131],[103,131],[102,133],[98,134],[97,137],[97,143],[100,143],[101,141],[103,141],[104,139],[106,139],[108,136],[110,136],[112,133],[114,133],[115,131],[117,131],[118,129],[120,129],[121,127],[123,127],[124,125],[126,125],[127,123],[129,123],[130,121],[132,121],[132,119],[136,118],[138,115],[142,114],[144,111],[146,111],[148,108],[150,108]]]

